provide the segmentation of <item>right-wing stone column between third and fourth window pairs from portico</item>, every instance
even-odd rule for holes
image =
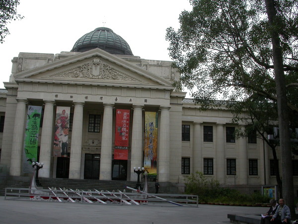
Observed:
[[[241,131],[245,131],[245,126],[240,125]],[[238,158],[238,166],[236,161],[236,167],[239,167],[239,171],[236,170],[236,175],[239,180],[239,184],[247,184],[247,137],[239,138],[239,158]]]

